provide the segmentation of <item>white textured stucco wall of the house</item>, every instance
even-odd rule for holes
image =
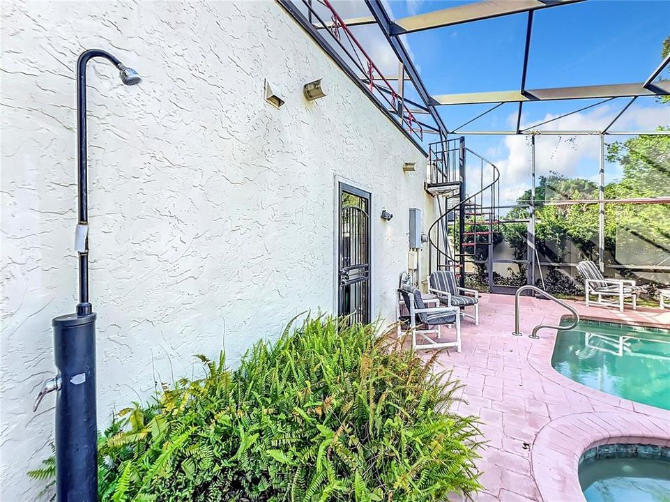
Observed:
[[[2,501],[36,498],[49,454],[51,319],[76,303],[75,61],[89,64],[91,300],[100,425],[156,379],[236,360],[334,305],[335,178],[373,191],[374,305],[393,321],[422,154],[276,3],[2,3]],[[263,100],[264,78],[286,99]],[[328,97],[306,102],[323,77]],[[417,171],[402,173],[402,162]],[[381,207],[395,218],[379,220]],[[427,228],[429,214],[425,213]]]

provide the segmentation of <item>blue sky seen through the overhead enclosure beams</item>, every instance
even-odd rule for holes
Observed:
[[[390,1],[394,17],[425,13],[464,1]],[[519,89],[527,15],[517,14],[404,37],[425,86],[432,94]],[[670,34],[670,1],[590,0],[535,12],[526,87],[642,82],[660,62],[662,40]],[[622,106],[625,99],[621,100]],[[645,100],[653,105],[653,100]],[[534,103],[528,122],[591,104]],[[616,108],[616,102],[611,103]],[[441,107],[455,128],[490,105]],[[508,129],[516,105],[496,109],[473,123]],[[536,119],[533,121],[533,119]]]

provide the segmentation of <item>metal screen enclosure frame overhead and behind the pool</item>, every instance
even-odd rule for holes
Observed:
[[[363,15],[353,19],[344,19],[337,13],[330,0],[277,0],[278,3],[291,15],[294,20],[319,44],[335,63],[346,73],[349,78],[362,90],[368,98],[386,114],[395,126],[402,130],[423,153],[426,138],[439,137],[439,141],[446,142],[448,139],[466,135],[527,135],[531,139],[532,156],[532,196],[528,204],[528,284],[535,284],[536,268],[541,273],[540,265],[574,266],[568,263],[540,262],[539,255],[535,249],[535,137],[547,136],[597,136],[600,138],[600,170],[598,173],[599,193],[595,201],[561,201],[560,204],[598,204],[598,242],[597,261],[601,270],[604,269],[604,207],[609,202],[604,199],[604,144],[608,136],[632,136],[632,135],[670,135],[670,130],[612,130],[620,117],[629,109],[634,102],[640,98],[654,98],[670,95],[670,80],[659,79],[662,71],[670,63],[670,55],[666,56],[657,68],[650,71],[644,82],[633,82],[626,84],[597,84],[589,86],[568,86],[549,89],[528,89],[526,79],[530,69],[531,45],[533,40],[533,24],[535,12],[538,10],[552,10],[553,8],[569,8],[575,4],[587,0],[523,0],[517,2],[500,2],[492,0],[481,0],[461,6],[451,6],[429,13],[422,13],[409,17],[393,20],[381,0],[365,0],[365,5],[370,15]],[[577,8],[577,7],[575,7]],[[526,15],[524,54],[521,63],[521,77],[519,88],[503,91],[459,93],[459,94],[436,94],[428,92],[422,82],[418,69],[407,50],[401,36],[411,36],[418,31],[439,29],[443,26],[456,26],[481,20],[503,17],[508,15]],[[365,52],[363,44],[356,38],[356,26],[374,24],[379,28],[386,43],[395,54],[398,63],[397,75],[382,75],[379,67]],[[444,47],[446,48],[446,47]],[[438,48],[436,48],[437,50]],[[420,56],[420,53],[418,54]],[[418,95],[417,99],[410,99],[406,89],[413,87]],[[555,122],[566,116],[610,103],[616,98],[630,98],[625,102],[616,115],[607,125],[599,130],[542,130],[541,126]],[[521,114],[524,104],[540,101],[565,101],[565,100],[597,100],[586,106],[578,107],[570,112],[558,114],[553,118],[532,126],[521,126]],[[469,121],[450,128],[441,116],[440,110],[448,109],[451,105],[470,105],[489,103],[491,107],[474,116]],[[473,121],[486,116],[498,107],[506,103],[516,103],[517,115],[516,127],[509,130],[471,130],[466,126]],[[417,117],[420,116],[420,119]],[[430,140],[434,141],[434,140]],[[504,178],[504,172],[501,176]],[[654,203],[670,204],[670,197],[659,199],[645,199],[634,202],[636,204]],[[546,204],[552,204],[551,202]],[[556,203],[559,204],[559,203]],[[498,260],[503,262],[504,260]],[[628,268],[628,267],[625,267]]]

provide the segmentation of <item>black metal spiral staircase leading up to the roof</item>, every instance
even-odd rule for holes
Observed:
[[[440,215],[428,230],[429,273],[453,271],[462,287],[466,273],[473,273],[474,283],[487,282],[490,291],[494,237],[500,231],[500,172],[466,148],[464,137],[432,143],[428,151],[426,190]]]

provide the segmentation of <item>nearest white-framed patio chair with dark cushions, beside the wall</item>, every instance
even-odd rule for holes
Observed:
[[[459,307],[426,307],[421,291],[416,287],[398,289],[398,321],[399,332],[408,330],[412,336],[413,349],[443,349],[456,347],[461,351],[461,317]],[[404,304],[407,315],[402,315],[400,305]],[[456,328],[455,342],[442,342],[441,326],[454,325]],[[434,335],[434,338],[429,335]]]

